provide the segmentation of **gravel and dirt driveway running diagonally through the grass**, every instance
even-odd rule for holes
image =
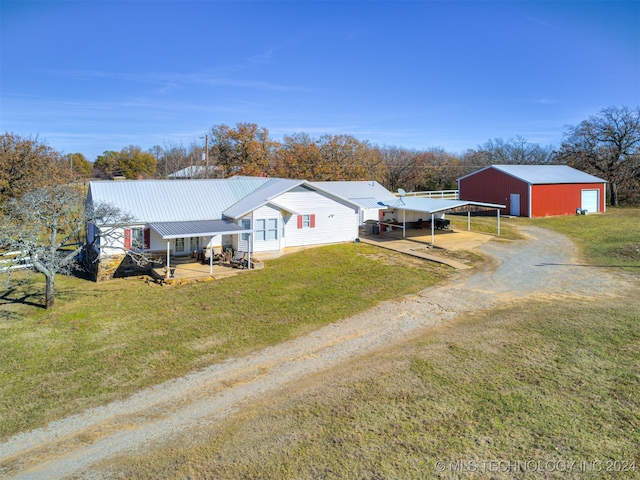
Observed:
[[[0,476],[53,479],[82,472],[100,478],[91,470],[95,462],[215,422],[288,382],[457,315],[531,295],[606,299],[631,285],[628,276],[580,265],[575,248],[561,235],[535,227],[523,232],[531,237],[528,241],[480,246],[494,259],[482,271],[461,272],[446,285],[14,436],[0,445]]]

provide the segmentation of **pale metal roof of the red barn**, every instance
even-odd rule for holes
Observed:
[[[531,185],[605,182],[605,180],[601,178],[594,177],[593,175],[589,175],[588,173],[576,170],[567,165],[491,165],[477,172],[465,175],[458,180],[475,175],[488,168],[494,168]]]

